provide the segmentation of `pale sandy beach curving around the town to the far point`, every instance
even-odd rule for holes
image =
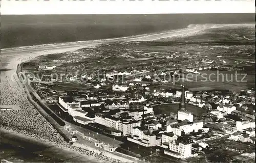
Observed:
[[[109,43],[114,41],[153,41],[163,38],[186,37],[200,34],[209,28],[221,28],[223,26],[254,26],[254,24],[189,25],[187,28],[181,30],[131,37],[1,49],[1,69],[9,70],[1,71],[0,104],[18,105],[20,107],[19,111],[1,112],[1,134],[2,130],[5,129],[5,134],[7,134],[7,130],[9,130],[12,135],[20,133],[19,137],[22,137],[22,139],[30,139],[30,141],[35,142],[45,142],[46,144],[44,145],[49,145],[51,148],[59,149],[60,147],[57,145],[67,147],[65,152],[63,151],[65,154],[62,153],[62,155],[81,155],[79,156],[79,161],[83,160],[83,162],[96,160],[97,162],[116,161],[115,159],[107,158],[100,160],[97,155],[93,153],[90,155],[90,151],[70,147],[68,143],[63,140],[60,134],[53,137],[52,133],[57,132],[56,129],[50,123],[44,123],[47,120],[40,115],[34,106],[28,101],[27,94],[22,85],[19,84],[19,81],[13,79],[12,76],[16,74],[17,65],[37,56],[73,51],[84,47],[95,46],[101,43]]]

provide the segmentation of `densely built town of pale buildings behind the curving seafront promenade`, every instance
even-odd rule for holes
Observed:
[[[254,151],[254,87],[195,81],[207,72],[249,72],[253,61],[248,66],[243,65],[245,60],[220,55],[195,61],[199,57],[188,52],[138,49],[107,55],[108,50],[117,52],[112,46],[137,44],[103,44],[57,58],[43,56],[40,61],[45,65],[25,62],[17,73],[21,80],[27,79],[32,98],[40,101],[60,126],[59,132],[77,148],[91,146],[145,160],[205,160],[206,156],[212,161],[218,155],[223,162]],[[108,52],[104,58],[98,52],[102,49]],[[82,52],[88,54],[82,55],[84,59],[79,57]],[[34,72],[39,75],[31,75]],[[70,76],[60,77],[61,73]],[[186,79],[188,74],[192,80]]]

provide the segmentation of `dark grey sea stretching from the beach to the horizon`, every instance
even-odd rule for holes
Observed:
[[[254,23],[254,13],[1,15],[1,48],[127,37],[189,24]]]

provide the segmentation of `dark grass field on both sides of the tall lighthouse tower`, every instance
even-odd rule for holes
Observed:
[[[179,111],[179,104],[165,104],[165,105],[157,105],[153,106],[153,110],[155,114],[166,114],[169,115],[170,113],[178,113]],[[200,115],[205,113],[206,110],[203,108],[186,104],[186,110],[193,113],[194,115]]]

